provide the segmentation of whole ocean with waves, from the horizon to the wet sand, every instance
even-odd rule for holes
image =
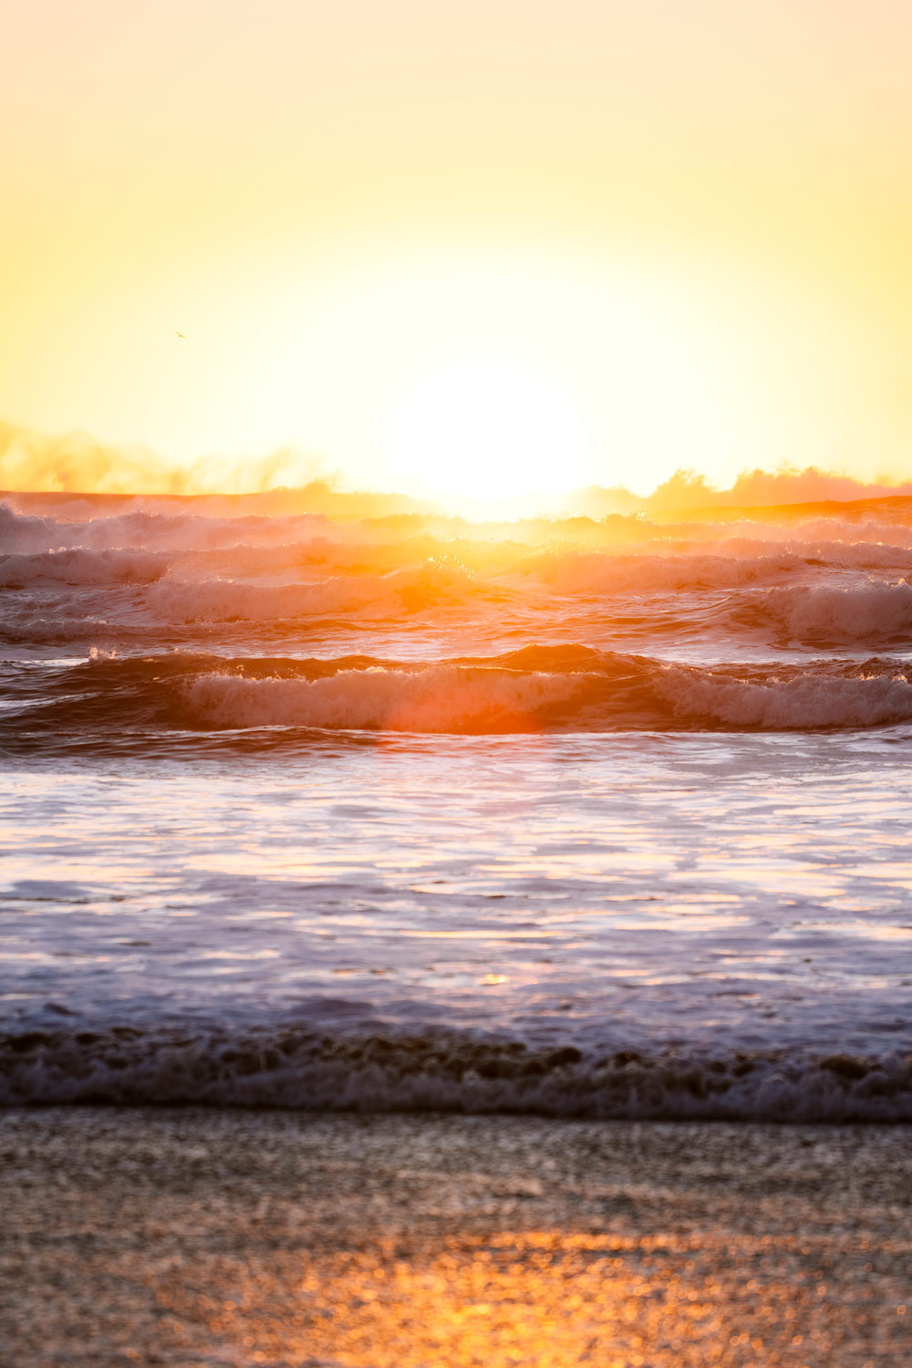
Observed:
[[[912,1119],[912,499],[3,498],[0,1103]]]

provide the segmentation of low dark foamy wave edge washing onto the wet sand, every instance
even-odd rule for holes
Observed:
[[[546,1116],[912,1120],[912,1056],[723,1048],[584,1052],[454,1030],[29,1030],[0,1037],[0,1104],[115,1103]]]

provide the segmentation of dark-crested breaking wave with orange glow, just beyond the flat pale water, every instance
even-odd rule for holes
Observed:
[[[98,746],[116,729],[498,735],[618,731],[812,731],[912,721],[896,662],[690,666],[584,646],[432,662],[161,653],[10,670],[5,746],[49,733]]]

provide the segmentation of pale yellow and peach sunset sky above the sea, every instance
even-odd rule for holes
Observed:
[[[0,420],[213,486],[912,473],[907,0],[4,12]]]

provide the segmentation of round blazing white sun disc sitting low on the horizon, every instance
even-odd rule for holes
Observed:
[[[429,369],[394,409],[390,466],[450,501],[558,494],[591,477],[578,404],[543,368],[474,356]]]

